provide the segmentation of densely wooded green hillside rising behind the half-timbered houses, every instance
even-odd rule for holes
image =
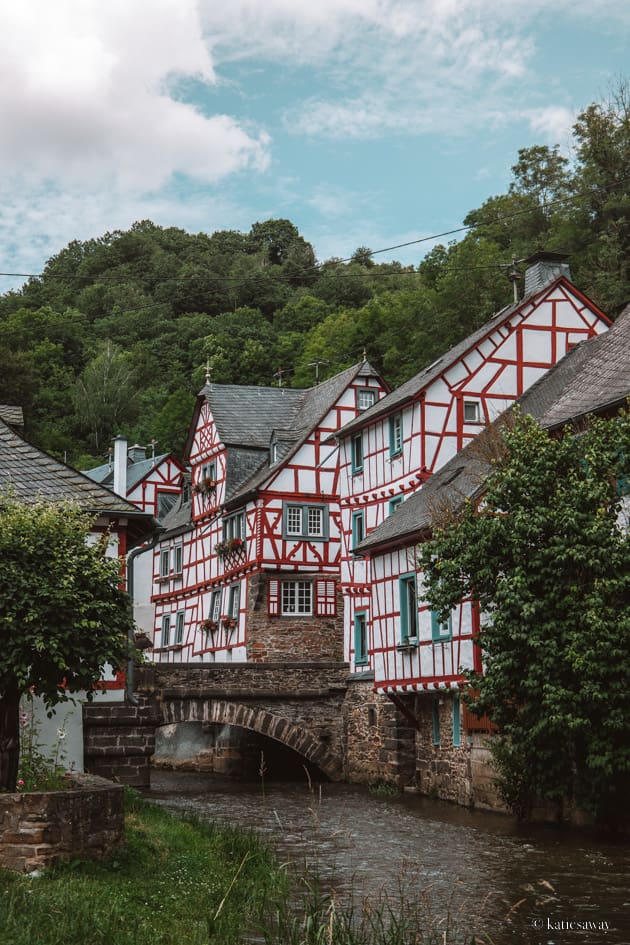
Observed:
[[[508,304],[512,258],[539,248],[569,253],[575,284],[615,317],[630,299],[622,83],[579,116],[573,145],[571,160],[519,151],[508,192],[471,210],[456,241],[423,259],[419,243],[416,268],[366,247],[318,263],[289,220],[212,235],[143,221],[72,242],[0,297],[0,402],[78,465],[120,431],[179,450],[206,362],[217,383],[301,387],[365,350],[397,385]]]

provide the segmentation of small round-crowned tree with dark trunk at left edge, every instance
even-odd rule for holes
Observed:
[[[76,506],[0,497],[0,791],[14,791],[19,703],[33,689],[48,707],[87,690],[128,655],[133,618],[118,562],[88,544]]]

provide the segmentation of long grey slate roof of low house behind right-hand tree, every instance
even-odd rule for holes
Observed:
[[[630,305],[609,331],[572,348],[516,401],[542,427],[552,429],[588,413],[621,406],[630,397]],[[510,410],[513,408],[509,408]],[[357,546],[409,545],[428,532],[440,509],[453,508],[484,489],[492,472],[492,439],[506,413],[434,473]],[[502,419],[503,418],[503,419]]]

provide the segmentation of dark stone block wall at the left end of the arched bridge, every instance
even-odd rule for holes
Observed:
[[[112,781],[147,790],[155,729],[161,724],[157,706],[93,702],[83,706],[85,770]]]

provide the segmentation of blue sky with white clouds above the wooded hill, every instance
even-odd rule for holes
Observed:
[[[570,156],[628,49],[628,0],[9,0],[0,271],[144,219],[288,218],[319,260],[426,239],[519,148]]]

